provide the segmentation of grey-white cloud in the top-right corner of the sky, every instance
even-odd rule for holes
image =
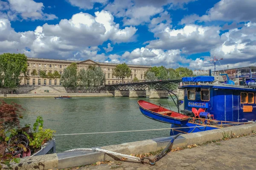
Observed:
[[[181,20],[181,24],[194,23],[195,21],[237,21],[256,22],[255,0],[221,0],[214,5],[207,14],[199,17],[197,14],[187,16]]]

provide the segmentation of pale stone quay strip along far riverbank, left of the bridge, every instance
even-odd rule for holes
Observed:
[[[114,96],[112,93],[60,93],[60,94],[0,94],[0,98],[26,98],[26,97],[104,97]]]

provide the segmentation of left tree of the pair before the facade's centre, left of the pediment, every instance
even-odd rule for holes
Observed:
[[[76,63],[71,63],[67,68],[64,68],[61,75],[61,84],[65,88],[76,88],[78,85],[78,74]]]

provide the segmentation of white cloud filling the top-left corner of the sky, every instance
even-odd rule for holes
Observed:
[[[54,20],[58,19],[54,14],[43,12],[43,3],[37,3],[34,0],[8,0],[0,1],[0,17],[9,20]]]

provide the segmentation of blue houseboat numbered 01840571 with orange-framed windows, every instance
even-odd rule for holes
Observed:
[[[227,74],[228,73],[228,74]],[[255,122],[256,120],[256,67],[238,68],[215,72],[211,76],[183,77],[179,89],[184,93],[184,110],[186,116],[194,118],[178,131],[170,134],[191,133],[218,128],[218,124],[235,124],[235,122]],[[211,126],[200,120],[216,121]],[[188,127],[188,128],[185,128]]]

